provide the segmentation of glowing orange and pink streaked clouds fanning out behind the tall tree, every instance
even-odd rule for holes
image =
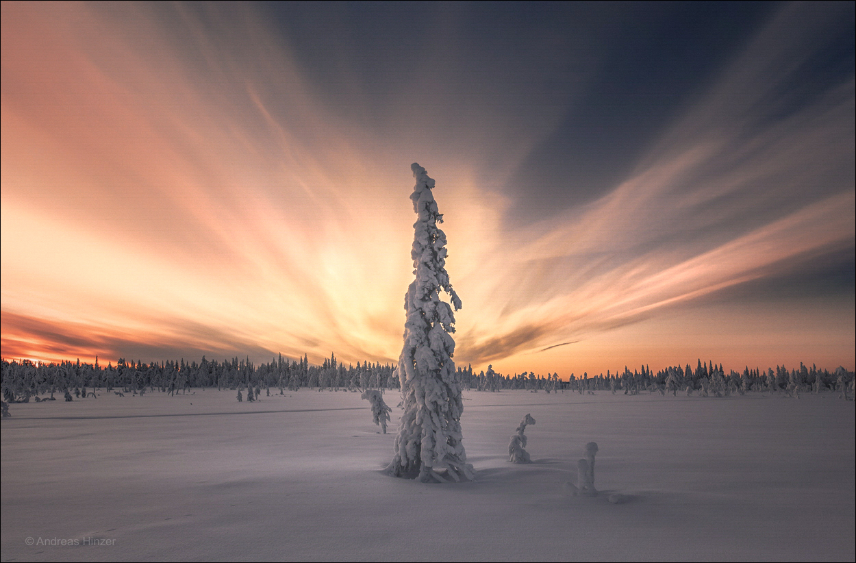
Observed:
[[[446,216],[464,305],[456,360],[477,368],[567,376],[623,367],[627,350],[666,361],[657,339],[674,340],[674,319],[705,296],[853,246],[847,170],[824,176],[820,195],[800,191],[818,170],[852,163],[852,81],[775,127],[740,132],[753,102],[729,96],[763,89],[746,68],[782,41],[775,21],[630,178],[510,227],[514,204],[495,188],[558,110],[529,129],[517,119],[509,135],[491,128],[502,108],[488,104],[461,116],[455,136],[422,119],[440,106],[416,119],[402,101],[372,127],[324,106],[253,11],[159,10],[3,3],[4,357],[394,361],[414,160],[437,180]],[[407,99],[431,104],[425,96]],[[756,221],[741,206],[763,212]],[[758,314],[775,327],[796,311]],[[708,314],[722,326],[737,313]],[[731,346],[688,329],[675,355],[711,339]],[[817,338],[804,341],[800,358],[814,361]],[[852,362],[852,339],[835,349],[824,357]]]

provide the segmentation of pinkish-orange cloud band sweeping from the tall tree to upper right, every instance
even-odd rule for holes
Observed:
[[[775,119],[762,103],[789,95],[782,85],[838,26],[806,9],[770,21],[626,181],[495,234],[469,292],[481,298],[473,349],[520,326],[547,329],[511,338],[514,353],[591,337],[853,247],[853,69]]]

